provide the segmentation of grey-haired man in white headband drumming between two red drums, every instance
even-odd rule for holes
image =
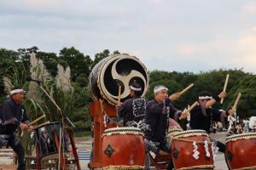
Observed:
[[[169,118],[179,117],[182,111],[172,105],[172,101],[178,99],[179,93],[168,96],[168,88],[165,86],[154,87],[154,99],[148,102],[146,124],[149,129],[145,132],[145,144],[149,151],[157,155],[168,155],[171,153],[171,144],[166,140],[169,127]],[[172,169],[170,161],[168,169]]]

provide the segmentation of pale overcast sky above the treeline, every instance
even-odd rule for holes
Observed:
[[[256,1],[0,0],[0,48],[136,55],[149,71],[256,73]]]

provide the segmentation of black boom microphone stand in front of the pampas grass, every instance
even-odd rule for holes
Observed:
[[[34,81],[34,82],[37,82],[37,83],[38,83],[38,87],[41,88],[41,90],[44,92],[44,94],[47,95],[47,97],[52,101],[52,103],[56,106],[56,108],[58,109],[58,111],[60,111],[60,113],[61,113],[62,129],[61,129],[61,127],[60,127],[60,136],[59,136],[59,141],[60,141],[59,149],[60,149],[60,150],[59,150],[59,153],[58,153],[58,157],[59,157],[58,170],[60,170],[60,169],[61,169],[61,147],[62,147],[62,146],[61,146],[61,142],[62,142],[62,135],[63,135],[63,137],[64,137],[64,135],[65,135],[64,116],[63,116],[63,113],[62,113],[62,111],[61,111],[61,108],[59,107],[59,105],[56,104],[55,99],[53,99],[53,98],[45,91],[45,89],[42,87],[42,82],[40,82],[40,81]],[[70,124],[71,124],[73,127],[75,127],[74,124],[73,124],[73,122],[70,121],[70,119],[67,117],[67,115],[65,115],[65,117],[66,117],[67,121],[70,122]],[[64,139],[65,139],[65,138],[63,138],[63,143],[64,143]],[[63,147],[63,155],[64,155],[64,149],[65,149],[65,148]],[[64,161],[65,161],[65,157],[64,157]]]

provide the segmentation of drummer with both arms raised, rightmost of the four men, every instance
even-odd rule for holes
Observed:
[[[212,108],[217,101],[224,98],[226,93],[223,91],[215,98],[212,98],[212,94],[207,91],[202,91],[199,94],[198,103],[192,111],[190,111],[190,127],[191,129],[202,129],[207,133],[212,133],[213,122],[226,122],[227,117],[234,115],[235,111],[230,109],[229,111],[219,111],[216,108]],[[219,141],[215,141],[219,151],[225,151],[225,145]]]

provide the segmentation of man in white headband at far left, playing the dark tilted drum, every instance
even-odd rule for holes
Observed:
[[[25,150],[16,135],[18,128],[32,132],[33,127],[28,126],[26,110],[22,104],[25,91],[22,88],[14,88],[10,92],[10,98],[1,106],[0,110],[0,146],[10,146],[18,157],[18,170],[25,170]]]

